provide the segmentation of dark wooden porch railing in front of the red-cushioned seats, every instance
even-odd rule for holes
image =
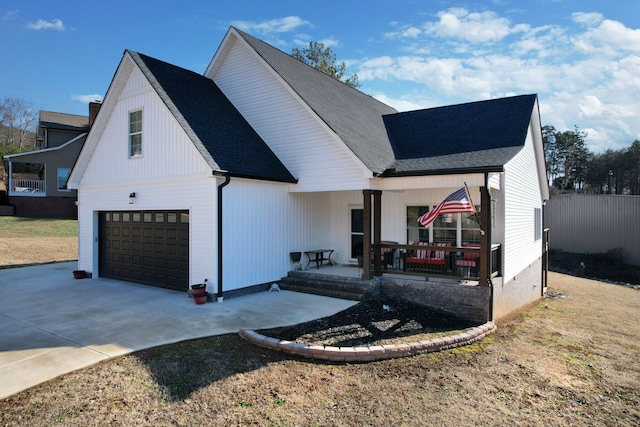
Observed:
[[[468,246],[430,246],[379,244],[382,273],[440,277],[456,280],[480,279],[480,248]],[[440,256],[433,256],[435,253]],[[426,256],[430,253],[431,256]],[[467,256],[465,256],[467,254]],[[491,277],[502,274],[502,246],[491,245]],[[372,257],[373,260],[373,257]],[[372,261],[373,262],[373,261]]]

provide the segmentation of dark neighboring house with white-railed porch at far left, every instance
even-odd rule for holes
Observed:
[[[4,156],[9,204],[19,216],[77,217],[76,190],[67,179],[100,108],[89,116],[40,111],[37,150]]]

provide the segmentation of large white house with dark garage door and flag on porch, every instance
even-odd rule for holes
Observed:
[[[183,291],[208,278],[229,296],[285,276],[290,252],[362,256],[369,280],[383,241],[396,253],[447,242],[475,251],[474,273],[450,263],[394,283],[484,320],[544,286],[537,96],[398,113],[233,27],[204,75],[125,51],[68,185],[78,268],[94,277]],[[478,216],[420,227],[465,185]]]

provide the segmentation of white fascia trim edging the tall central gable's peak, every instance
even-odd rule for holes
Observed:
[[[313,119],[329,135],[331,135],[332,139],[338,144],[341,150],[347,153],[347,155],[355,162],[355,164],[359,166],[360,170],[362,171],[363,178],[371,178],[373,172],[369,168],[367,168],[367,166],[362,162],[362,160],[360,160],[360,158],[356,156],[356,154],[349,149],[347,144],[344,141],[342,141],[340,136],[324,120],[322,120],[322,118],[318,115],[318,113],[316,113],[309,106],[309,104],[307,104],[304,101],[304,99],[289,85],[289,83],[287,83],[287,81],[284,78],[282,78],[282,76],[280,76],[280,74],[278,74],[276,70],[274,70],[274,68],[271,65],[269,65],[267,61],[264,60],[264,58],[244,39],[244,37],[242,37],[235,30],[235,28],[231,27],[229,28],[229,31],[227,31],[227,34],[225,35],[222,45],[220,46],[218,51],[215,53],[213,60],[211,61],[211,64],[209,64],[209,67],[207,67],[207,71],[205,71],[205,77],[208,77],[215,81],[214,79],[215,73],[220,68],[222,61],[227,56],[227,53],[229,52],[229,50],[231,50],[231,45],[234,39],[238,40],[240,43],[242,43],[243,46],[249,49],[249,52],[251,52],[251,54],[254,55],[255,58],[257,58],[257,60],[265,67],[265,69],[268,70],[268,72],[271,73],[271,75],[276,78],[276,80],[291,94],[291,96],[293,96],[296,102],[298,102],[298,104],[300,104],[300,106],[302,106],[302,108],[304,108],[304,110],[308,114],[310,114],[310,116],[313,117]]]

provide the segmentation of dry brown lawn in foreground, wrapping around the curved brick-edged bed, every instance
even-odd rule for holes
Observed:
[[[0,424],[639,425],[640,293],[556,273],[550,290],[480,343],[404,359],[310,362],[233,334],[150,349],[2,400]]]

